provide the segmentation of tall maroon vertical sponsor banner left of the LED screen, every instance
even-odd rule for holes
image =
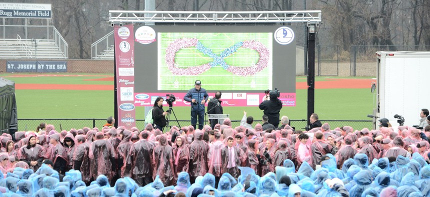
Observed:
[[[133,24],[114,25],[116,98],[118,126],[127,129],[136,125],[134,110],[134,41]]]

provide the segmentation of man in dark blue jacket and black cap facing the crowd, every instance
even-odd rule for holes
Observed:
[[[191,125],[195,129],[195,124],[197,123],[197,114],[198,114],[198,129],[203,129],[203,123],[204,123],[204,103],[207,100],[207,97],[209,95],[207,94],[206,90],[201,88],[201,81],[196,80],[194,82],[194,88],[188,90],[186,92],[185,96],[183,97],[184,100],[191,102]]]

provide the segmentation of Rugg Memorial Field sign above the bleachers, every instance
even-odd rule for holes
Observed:
[[[51,4],[0,3],[0,17],[51,18]]]

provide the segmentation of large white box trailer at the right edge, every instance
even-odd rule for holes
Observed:
[[[378,51],[376,56],[373,125],[378,128],[386,117],[396,129],[395,114],[404,117],[404,125],[418,125],[421,109],[430,109],[430,51]]]

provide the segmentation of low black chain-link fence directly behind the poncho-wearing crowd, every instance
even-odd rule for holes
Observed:
[[[362,128],[371,128],[372,120],[320,120],[322,123],[327,122],[331,129],[341,126],[351,126],[354,129],[361,130]],[[97,127],[100,128],[106,123],[106,119],[99,118],[79,118],[79,119],[18,119],[18,131],[30,131],[36,130],[37,126],[45,122],[47,124],[52,124],[55,130],[70,130],[71,128],[83,128],[83,127]],[[254,120],[253,125],[261,120]],[[305,119],[291,119],[290,125],[296,129],[305,130],[307,121]],[[170,120],[169,125],[188,126],[191,124],[190,120]],[[240,120],[231,120],[231,126],[234,128],[240,125]],[[139,130],[143,130],[145,126],[144,119],[136,119],[136,127]]]

